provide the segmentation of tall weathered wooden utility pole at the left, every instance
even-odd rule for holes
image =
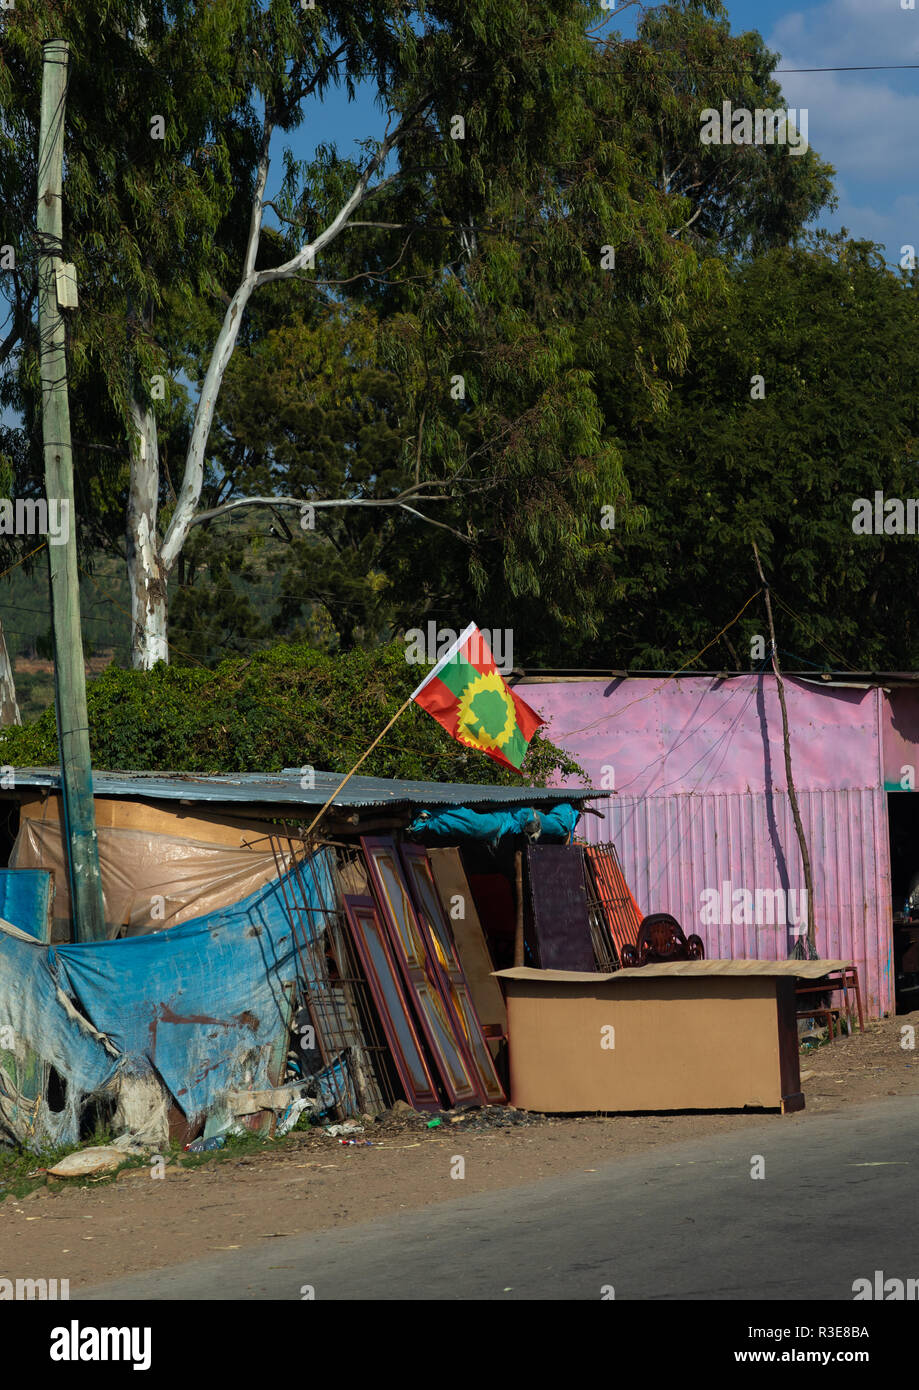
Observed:
[[[61,509],[63,543],[51,545],[51,617],[54,626],[54,702],[61,758],[61,794],[67,840],[71,912],[75,941],[101,941],[106,917],[99,873],[99,844],[89,763],[86,676],[79,628],[79,578],[74,517],[74,456],[67,398],[67,335],[60,299],[67,297],[63,268],[61,210],[64,181],[64,100],[68,44],[49,39],[43,44],[42,128],[39,135],[38,231],[39,231],[39,339],[42,363],[42,435],[44,441],[44,493]],[[58,274],[61,272],[61,274]],[[58,288],[60,285],[60,288]],[[58,299],[60,296],[60,299]]]

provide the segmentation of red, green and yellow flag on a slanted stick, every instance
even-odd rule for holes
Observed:
[[[505,684],[474,623],[428,671],[412,699],[459,744],[478,748],[514,771],[520,771],[537,728],[546,723]]]

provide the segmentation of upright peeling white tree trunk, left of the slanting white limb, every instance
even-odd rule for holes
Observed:
[[[150,407],[131,402],[135,435],[131,449],[128,491],[128,585],[131,589],[131,662],[149,671],[168,662],[167,571],[160,557],[156,530],[160,499],[160,450]]]

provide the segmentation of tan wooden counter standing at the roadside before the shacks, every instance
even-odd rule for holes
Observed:
[[[795,979],[845,960],[498,970],[510,1102],[524,1111],[804,1109]]]

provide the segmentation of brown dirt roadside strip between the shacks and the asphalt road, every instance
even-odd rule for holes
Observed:
[[[913,1048],[904,1029],[913,1030]],[[0,1202],[0,1276],[70,1279],[81,1287],[164,1268],[273,1236],[346,1226],[459,1195],[455,1158],[464,1159],[462,1195],[494,1191],[610,1158],[742,1127],[806,1125],[808,1116],[859,1101],[919,1094],[919,1012],[869,1023],[801,1054],[806,1109],[552,1118],[520,1111],[430,1116],[389,1112],[343,1147],[321,1131],[293,1133],[257,1154],[220,1152],[161,1180],[150,1169],[117,1179],[47,1183]],[[366,1141],[370,1141],[367,1144]]]

